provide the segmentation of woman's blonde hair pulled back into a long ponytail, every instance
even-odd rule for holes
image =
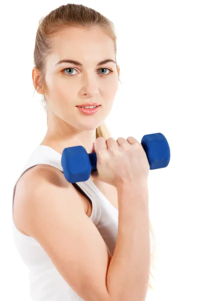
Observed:
[[[90,30],[93,27],[101,28],[105,34],[107,34],[114,43],[114,53],[116,62],[116,34],[113,23],[106,17],[96,12],[95,10],[77,4],[67,4],[58,7],[51,11],[47,16],[41,18],[35,37],[34,47],[34,65],[39,70],[40,77],[38,85],[45,89],[45,70],[46,70],[46,57],[51,53],[51,38],[53,38],[61,30],[65,30],[69,27],[78,27],[86,30]],[[117,64],[116,64],[117,66]],[[35,87],[36,88],[36,87]],[[43,94],[41,99],[43,107],[46,110],[46,99]],[[47,116],[48,123],[48,116]],[[103,122],[96,128],[96,138],[103,137],[105,140],[111,137],[111,134]],[[154,266],[154,256],[156,254],[155,249],[155,237],[151,222],[149,221],[149,228],[153,240],[153,248],[151,251],[151,267],[156,270]],[[143,256],[143,254],[142,254]],[[154,278],[150,271],[150,275]],[[151,285],[151,279],[149,277],[148,288],[153,289]]]

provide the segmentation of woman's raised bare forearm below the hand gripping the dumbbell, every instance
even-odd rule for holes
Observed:
[[[106,285],[112,301],[143,301],[150,272],[148,191],[144,185],[121,185],[118,235]]]

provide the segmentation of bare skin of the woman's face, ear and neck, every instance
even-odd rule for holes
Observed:
[[[55,66],[63,59],[76,60],[83,66]],[[115,61],[114,45],[100,28],[68,28],[52,38],[52,53],[46,60],[45,91],[37,86],[39,70],[32,69],[33,85],[47,100],[48,125],[40,145],[50,146],[60,154],[65,147],[82,145],[87,153],[92,153],[96,127],[109,114],[118,89],[119,66],[112,62],[96,66],[105,59]],[[62,71],[65,68],[68,69]],[[99,103],[98,112],[84,115],[75,107],[87,102]]]

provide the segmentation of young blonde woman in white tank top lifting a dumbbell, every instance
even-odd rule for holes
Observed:
[[[104,124],[118,88],[115,57],[113,24],[92,9],[63,5],[39,24],[32,80],[47,131],[13,193],[32,300],[142,301],[152,288],[147,157],[135,138],[114,140]],[[76,145],[96,152],[97,173],[71,184],[61,154]]]

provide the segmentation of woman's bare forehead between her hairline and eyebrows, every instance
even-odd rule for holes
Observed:
[[[74,59],[94,64],[106,58],[114,59],[114,43],[102,29],[68,28],[60,31],[51,40],[53,64],[62,59]]]

